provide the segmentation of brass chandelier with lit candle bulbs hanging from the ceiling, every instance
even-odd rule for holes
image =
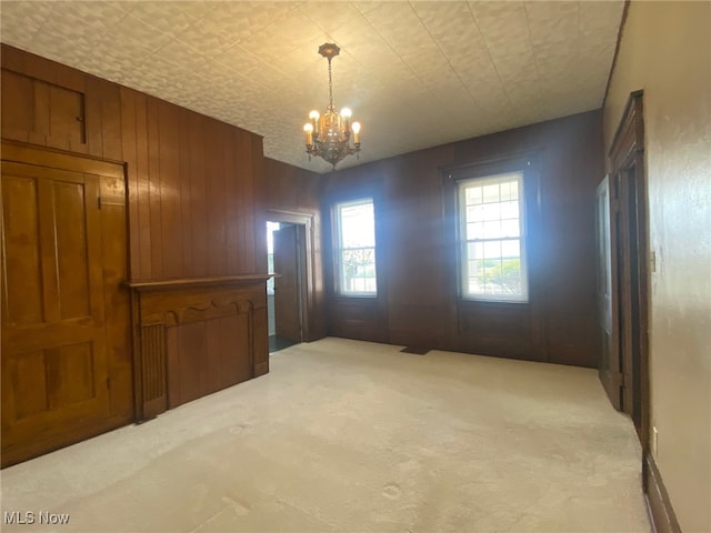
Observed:
[[[333,169],[347,155],[360,152],[360,122],[351,122],[350,109],[343,108],[340,113],[337,113],[333,107],[331,60],[340,51],[341,49],[331,42],[319,47],[319,53],[329,60],[329,105],[324,114],[316,110],[311,111],[310,121],[303,127],[309,161],[311,155],[316,155],[331,163]],[[351,133],[353,145],[350,144]]]

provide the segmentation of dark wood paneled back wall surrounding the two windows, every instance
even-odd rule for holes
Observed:
[[[522,153],[537,153],[540,165],[530,302],[462,304],[443,170]],[[599,111],[330,174],[327,205],[363,187],[375,193],[380,292],[377,302],[336,296],[324,261],[329,333],[595,366],[594,191],[602,177]]]

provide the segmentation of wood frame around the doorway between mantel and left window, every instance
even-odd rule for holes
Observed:
[[[316,247],[313,234],[313,219],[316,213],[306,211],[288,211],[281,209],[268,209],[264,215],[264,220],[270,222],[283,222],[289,224],[302,225],[303,242],[299,243],[302,248],[303,263],[306,263],[306,270],[301,274],[301,338],[306,342],[314,341],[316,324],[314,324],[314,308],[316,308]]]

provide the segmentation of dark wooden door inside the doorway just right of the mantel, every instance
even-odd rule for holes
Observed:
[[[292,342],[301,342],[299,228],[291,224],[273,232],[276,334]]]

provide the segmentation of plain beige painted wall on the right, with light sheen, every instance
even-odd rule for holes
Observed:
[[[711,2],[632,1],[603,110],[644,90],[651,424],[682,531],[711,531]]]

